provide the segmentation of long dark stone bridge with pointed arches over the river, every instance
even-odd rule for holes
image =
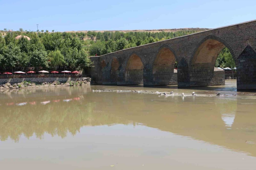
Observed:
[[[90,74],[98,84],[225,84],[214,71],[225,46],[236,63],[237,90],[256,90],[256,20],[91,57]]]

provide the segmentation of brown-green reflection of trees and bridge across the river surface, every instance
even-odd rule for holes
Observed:
[[[105,135],[102,134],[98,139],[109,141],[108,128],[101,125],[114,126],[112,130],[114,129],[121,136],[122,133],[131,132],[132,125],[142,131],[144,128],[141,129],[141,126],[145,126],[188,137],[190,140],[198,141],[199,144],[203,141],[256,156],[255,97],[246,94],[232,97],[231,93],[234,92],[227,92],[231,94],[228,97],[207,97],[206,93],[209,91],[198,91],[197,96],[192,97],[189,96],[191,90],[188,89],[176,89],[174,96],[166,97],[151,93],[151,91],[166,90],[157,88],[140,88],[147,92],[139,94],[108,90],[92,93],[93,88],[138,89],[138,87],[91,86],[23,89],[3,93],[0,99],[0,143],[20,142],[23,136],[31,140],[35,140],[34,137],[44,140],[44,136],[49,138],[47,134],[52,138],[60,136],[65,141],[65,138],[71,134],[75,138],[73,142],[78,144],[84,131],[88,133],[92,130],[89,127],[105,129],[103,130],[106,132]],[[181,91],[188,96],[185,98],[179,96]],[[144,130],[146,130],[145,134],[152,131],[152,138],[148,140],[156,139],[159,133],[158,130]],[[136,136],[136,133],[129,133],[130,140],[133,140],[133,135]],[[166,140],[170,139],[166,138]],[[21,143],[23,142],[24,140]],[[189,142],[187,144],[189,145]],[[104,146],[108,147],[108,145],[111,144],[105,143]],[[200,150],[200,145],[198,149]]]

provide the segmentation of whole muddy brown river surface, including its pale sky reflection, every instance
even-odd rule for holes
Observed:
[[[0,95],[1,169],[256,169],[256,95],[234,80]]]

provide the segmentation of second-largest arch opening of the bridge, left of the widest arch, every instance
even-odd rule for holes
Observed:
[[[175,55],[163,47],[157,54],[153,64],[154,85],[177,84],[177,65]]]

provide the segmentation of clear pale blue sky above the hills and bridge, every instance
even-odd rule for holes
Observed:
[[[256,0],[0,0],[0,30],[217,28],[256,19]]]

